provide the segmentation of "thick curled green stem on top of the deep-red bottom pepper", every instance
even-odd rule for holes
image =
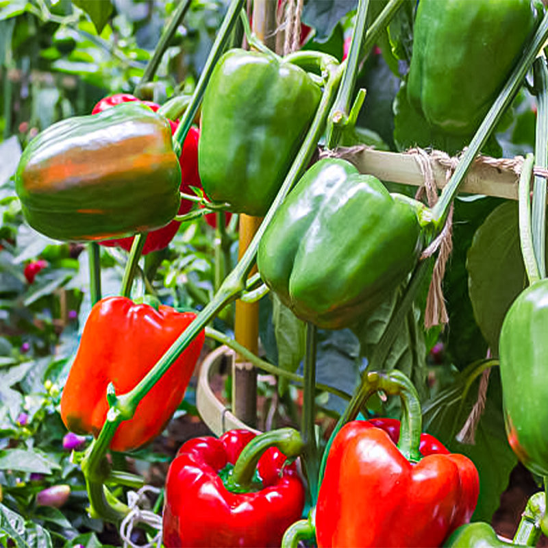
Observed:
[[[227,489],[249,488],[259,459],[264,451],[271,447],[277,447],[288,458],[295,458],[303,452],[305,445],[301,434],[294,428],[279,428],[259,434],[240,453],[232,473],[226,480]]]

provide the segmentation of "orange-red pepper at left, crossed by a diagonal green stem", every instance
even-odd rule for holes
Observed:
[[[129,392],[195,319],[169,306],[155,310],[125,297],[107,297],[93,306],[61,396],[61,418],[76,434],[97,436],[108,412],[106,390]],[[162,432],[181,403],[203,346],[201,332],[169,371],[123,421],[112,438],[113,451],[129,451]]]

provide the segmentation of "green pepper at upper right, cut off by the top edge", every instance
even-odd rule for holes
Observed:
[[[531,0],[421,0],[408,97],[449,134],[473,134],[535,25]]]

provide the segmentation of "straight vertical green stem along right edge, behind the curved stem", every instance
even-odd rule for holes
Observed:
[[[536,91],[537,116],[535,134],[535,164],[548,166],[548,67],[545,57],[533,63],[533,81]],[[533,187],[533,245],[538,274],[546,277],[546,179],[535,177]]]

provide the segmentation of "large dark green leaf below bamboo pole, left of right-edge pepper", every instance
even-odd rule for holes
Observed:
[[[495,353],[504,316],[525,287],[518,224],[518,204],[501,204],[477,229],[466,259],[474,316]]]

